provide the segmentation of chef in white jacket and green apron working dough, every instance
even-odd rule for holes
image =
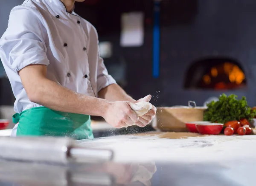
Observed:
[[[145,127],[153,106],[138,116],[134,100],[108,74],[98,34],[76,14],[84,0],[25,0],[12,9],[0,39],[0,58],[16,101],[12,136],[93,138],[90,116],[116,128]]]

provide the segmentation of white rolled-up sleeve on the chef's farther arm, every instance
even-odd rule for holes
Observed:
[[[97,91],[99,92],[102,88],[108,87],[109,85],[116,84],[116,80],[108,74],[108,70],[104,65],[103,59],[99,57],[97,69]]]

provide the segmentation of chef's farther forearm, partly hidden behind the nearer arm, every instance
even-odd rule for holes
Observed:
[[[107,99],[108,101],[130,101],[132,103],[135,102],[134,99],[131,98],[125,90],[123,90],[119,85],[112,84],[108,87],[103,88],[98,93],[99,98]]]

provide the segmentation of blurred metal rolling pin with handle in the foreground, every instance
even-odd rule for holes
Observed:
[[[17,161],[49,163],[101,163],[111,161],[113,152],[79,147],[70,138],[52,137],[2,137],[0,158]]]

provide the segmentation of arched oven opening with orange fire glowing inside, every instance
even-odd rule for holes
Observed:
[[[186,72],[186,89],[234,90],[246,88],[244,70],[229,58],[208,58],[192,63]]]

